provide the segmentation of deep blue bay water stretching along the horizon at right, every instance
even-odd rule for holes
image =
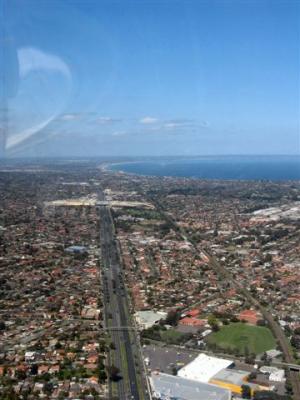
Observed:
[[[227,180],[300,180],[300,156],[199,157],[111,164],[138,175]]]

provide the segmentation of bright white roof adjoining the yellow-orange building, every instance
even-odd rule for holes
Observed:
[[[214,375],[228,368],[232,363],[231,360],[199,354],[195,360],[178,371],[178,376],[198,382],[209,382]]]

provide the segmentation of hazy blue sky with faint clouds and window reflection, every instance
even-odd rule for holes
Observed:
[[[3,4],[8,155],[299,154],[298,1]]]

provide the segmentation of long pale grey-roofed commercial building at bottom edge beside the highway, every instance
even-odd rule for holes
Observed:
[[[179,376],[152,373],[153,397],[160,400],[230,400],[228,389]]]

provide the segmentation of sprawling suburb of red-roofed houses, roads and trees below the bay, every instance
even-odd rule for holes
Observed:
[[[300,182],[0,165],[0,400],[300,399]]]

